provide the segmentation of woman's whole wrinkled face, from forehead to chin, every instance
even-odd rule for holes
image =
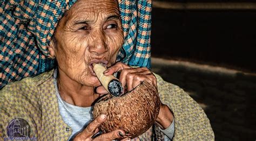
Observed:
[[[99,86],[92,63],[114,64],[123,38],[116,1],[79,0],[57,27],[54,55],[59,70],[80,84]]]

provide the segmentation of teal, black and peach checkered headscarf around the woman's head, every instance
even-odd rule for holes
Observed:
[[[0,2],[0,89],[53,68],[48,45],[58,20],[77,0]],[[118,0],[125,43],[118,59],[150,68],[151,1]]]

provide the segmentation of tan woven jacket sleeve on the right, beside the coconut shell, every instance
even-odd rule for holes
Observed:
[[[173,140],[214,140],[210,121],[199,104],[183,89],[164,81],[159,75],[156,77],[160,100],[174,115]]]

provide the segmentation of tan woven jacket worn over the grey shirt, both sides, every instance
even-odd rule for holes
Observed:
[[[0,140],[8,137],[7,131],[10,137],[17,130],[17,127],[14,129],[17,122],[11,121],[21,118],[29,124],[29,137],[36,137],[38,140],[69,138],[72,129],[59,114],[52,74],[53,70],[28,77],[8,84],[0,91]],[[158,75],[156,77],[160,99],[169,105],[174,114],[173,140],[214,140],[210,122],[203,109],[181,88],[165,82]],[[20,132],[28,135],[28,129],[21,128]],[[147,131],[139,138],[152,139],[152,133]]]

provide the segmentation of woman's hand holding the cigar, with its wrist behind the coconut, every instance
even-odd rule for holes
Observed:
[[[121,71],[119,80],[123,84],[123,87],[126,86],[127,91],[133,90],[144,81],[149,82],[157,88],[156,76],[154,76],[154,74],[146,67],[132,68],[123,64],[122,62],[118,62],[117,64],[106,69],[104,75],[112,75],[113,73],[119,71]],[[107,91],[103,86],[98,87],[96,91],[98,94],[107,94]],[[167,107],[167,105],[161,103],[156,123],[160,126],[160,128],[166,129],[171,125],[173,118],[174,117],[171,110]]]

